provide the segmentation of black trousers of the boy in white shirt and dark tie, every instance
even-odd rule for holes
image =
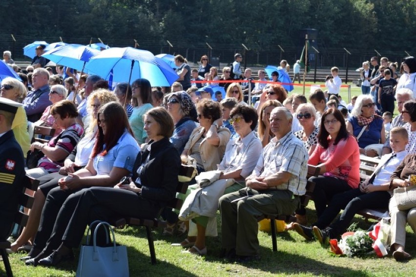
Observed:
[[[318,218],[318,221],[312,225],[319,229],[329,226],[327,230],[330,237],[338,238],[350,226],[351,220],[358,211],[387,208],[389,200],[390,194],[386,191],[362,193],[359,188],[352,189],[335,195],[324,213]],[[344,209],[341,216],[331,224],[341,209]]]

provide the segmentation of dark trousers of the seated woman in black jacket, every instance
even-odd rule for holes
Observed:
[[[117,216],[152,219],[159,217],[162,209],[160,203],[128,190],[92,187],[82,191],[60,238],[65,246],[75,248],[86,226],[95,220],[109,221]]]

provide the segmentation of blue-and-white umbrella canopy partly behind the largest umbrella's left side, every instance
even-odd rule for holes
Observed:
[[[42,57],[50,59],[56,64],[61,64],[81,71],[85,63],[89,61],[91,57],[99,53],[99,50],[95,50],[89,46],[81,44],[68,44],[54,48],[43,54]]]

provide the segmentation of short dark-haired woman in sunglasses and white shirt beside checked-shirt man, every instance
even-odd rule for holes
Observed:
[[[218,165],[218,170],[221,171],[219,179],[233,178],[236,183],[227,187],[223,194],[236,192],[245,187],[245,178],[253,171],[262,149],[260,139],[257,138],[254,132],[258,118],[256,110],[253,107],[239,103],[231,110],[230,117],[230,122],[239,138],[229,140],[224,158]],[[199,188],[198,185],[190,186],[187,195],[197,188]],[[213,209],[215,210],[218,208],[218,199],[216,201],[212,199],[215,206]],[[205,209],[207,210],[208,207],[205,207]],[[181,243],[173,245],[188,248],[184,253],[206,255],[206,230],[208,224],[214,223],[214,226],[216,226],[214,220],[216,220],[215,217],[198,216],[192,219],[194,224],[186,221],[189,230],[188,237]]]

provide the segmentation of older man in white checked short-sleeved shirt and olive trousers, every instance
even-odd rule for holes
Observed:
[[[228,257],[245,262],[259,258],[257,218],[263,214],[290,215],[306,192],[308,152],[291,132],[291,112],[276,107],[270,114],[275,135],[262,150],[246,188],[220,198],[222,247]]]

